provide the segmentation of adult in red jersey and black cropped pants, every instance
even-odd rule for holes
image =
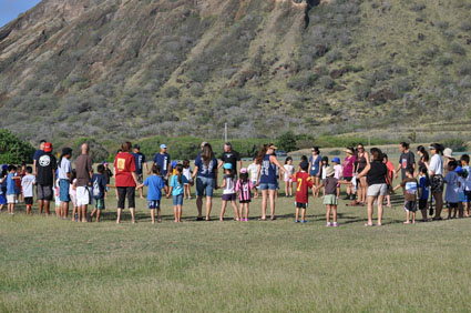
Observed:
[[[121,212],[124,210],[125,199],[131,212],[132,223],[135,223],[135,188],[137,185],[137,174],[134,155],[131,154],[131,142],[126,141],[121,145],[121,152],[114,159],[114,178],[117,190],[117,218],[116,224],[121,222]]]

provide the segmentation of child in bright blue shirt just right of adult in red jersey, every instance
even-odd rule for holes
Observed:
[[[162,222],[161,218],[161,199],[162,189],[167,192],[167,186],[161,176],[161,166],[152,166],[152,175],[145,179],[144,183],[140,184],[137,189],[147,186],[147,208],[151,210],[152,223],[155,224],[155,210],[157,210],[157,222]]]

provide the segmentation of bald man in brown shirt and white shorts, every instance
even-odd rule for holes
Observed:
[[[86,210],[92,200],[90,193],[90,180],[93,176],[93,160],[89,155],[89,144],[83,143],[80,148],[81,154],[75,160],[76,172],[76,206],[79,208],[79,220],[86,222]]]

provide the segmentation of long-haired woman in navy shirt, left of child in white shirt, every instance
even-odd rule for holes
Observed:
[[[217,185],[217,160],[209,143],[206,143],[196,156],[192,178],[193,180],[196,178],[196,208],[198,209],[196,220],[203,221],[203,196],[206,195],[206,221],[209,221],[213,190]]]

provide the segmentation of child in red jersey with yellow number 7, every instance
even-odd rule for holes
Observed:
[[[314,188],[313,180],[307,172],[309,164],[306,161],[299,163],[299,172],[293,178],[296,181],[296,220],[295,223],[307,223],[306,209],[309,202],[309,189]],[[301,211],[301,221],[299,221],[299,210]]]

